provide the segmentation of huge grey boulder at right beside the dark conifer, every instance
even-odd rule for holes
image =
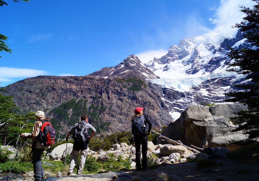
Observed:
[[[226,147],[234,150],[240,147],[237,142],[246,139],[247,135],[243,131],[231,132],[237,126],[229,118],[244,109],[246,107],[243,104],[219,104],[214,107],[191,105],[161,134],[181,140],[188,146]],[[163,141],[159,138],[158,142],[162,144]]]

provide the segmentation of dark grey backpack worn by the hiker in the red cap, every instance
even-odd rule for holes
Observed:
[[[136,116],[132,121],[132,134],[135,136],[141,136],[146,134],[146,119],[141,116]]]

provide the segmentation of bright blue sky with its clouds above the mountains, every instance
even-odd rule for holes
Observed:
[[[31,0],[0,7],[0,33],[12,54],[0,52],[6,86],[38,75],[84,76],[131,54],[161,57],[184,37],[233,33],[249,0],[86,1]]]

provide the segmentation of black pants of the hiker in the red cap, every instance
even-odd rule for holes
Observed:
[[[142,168],[147,168],[147,136],[135,136],[134,137],[136,148],[136,169],[141,169],[140,156],[142,152]],[[141,152],[140,152],[141,145]]]

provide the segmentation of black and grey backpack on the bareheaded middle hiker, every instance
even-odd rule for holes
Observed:
[[[89,134],[85,127],[85,122],[79,122],[76,125],[75,132],[73,133],[73,139],[75,142],[85,142],[88,140]]]

